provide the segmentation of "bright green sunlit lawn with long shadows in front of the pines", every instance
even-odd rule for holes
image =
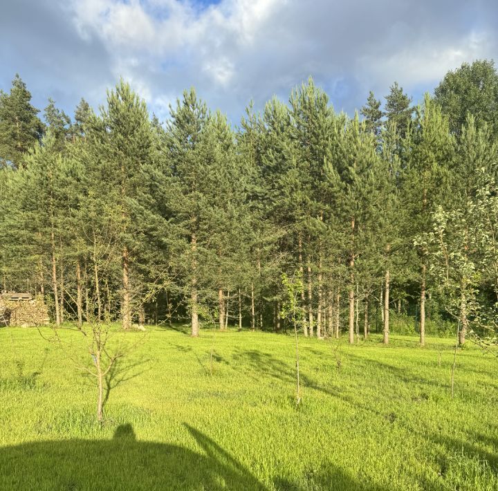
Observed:
[[[56,346],[28,328],[0,346],[1,490],[498,489],[498,365],[459,351],[452,400],[452,340],[302,338],[296,408],[291,336],[149,328],[102,428]]]

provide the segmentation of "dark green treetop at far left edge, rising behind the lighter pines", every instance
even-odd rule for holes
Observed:
[[[19,168],[28,151],[42,138],[38,109],[30,104],[31,94],[16,75],[10,93],[0,93],[0,165]]]

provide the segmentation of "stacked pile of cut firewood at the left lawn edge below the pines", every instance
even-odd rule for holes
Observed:
[[[33,298],[29,293],[0,295],[0,326],[35,327],[49,322],[42,297]]]

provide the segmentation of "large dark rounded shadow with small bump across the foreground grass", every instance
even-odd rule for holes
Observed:
[[[259,480],[198,429],[201,448],[137,441],[131,425],[111,440],[66,440],[0,448],[2,490],[265,490]]]

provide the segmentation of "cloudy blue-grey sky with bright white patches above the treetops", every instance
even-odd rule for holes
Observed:
[[[311,75],[336,111],[396,80],[421,100],[445,73],[497,59],[497,0],[1,0],[0,89],[73,114],[123,77],[160,120],[195,86],[237,124]]]

